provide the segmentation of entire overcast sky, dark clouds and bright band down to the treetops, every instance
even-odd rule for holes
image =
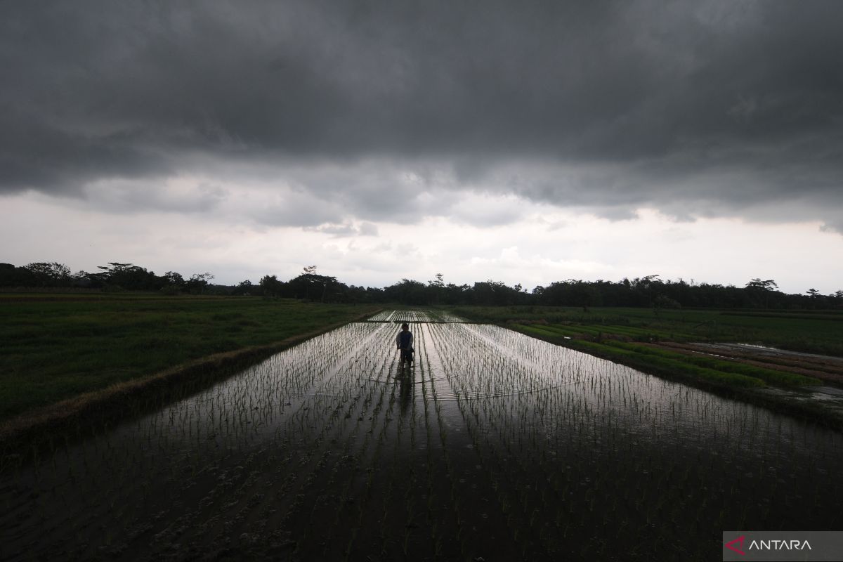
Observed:
[[[0,261],[843,288],[843,3],[3,2]]]

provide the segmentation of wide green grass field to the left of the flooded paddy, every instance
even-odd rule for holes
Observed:
[[[368,310],[259,297],[0,294],[0,420]]]

